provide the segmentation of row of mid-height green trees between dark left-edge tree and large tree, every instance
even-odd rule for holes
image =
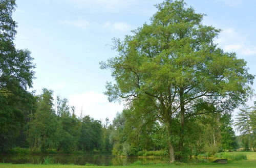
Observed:
[[[106,139],[108,136],[105,135],[108,130],[103,129],[100,121],[89,116],[77,118],[75,108],[68,105],[67,99],[59,96],[54,110],[53,92],[47,89],[42,92],[36,96],[36,111],[28,123],[27,135],[31,149],[42,152],[57,149],[64,153],[110,151]]]

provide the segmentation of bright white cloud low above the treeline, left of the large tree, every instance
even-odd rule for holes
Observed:
[[[82,110],[82,116],[90,115],[96,120],[108,117],[112,121],[116,113],[123,109],[123,105],[110,103],[104,94],[93,91],[70,95],[68,99],[69,104],[76,107],[77,116],[80,116]]]

